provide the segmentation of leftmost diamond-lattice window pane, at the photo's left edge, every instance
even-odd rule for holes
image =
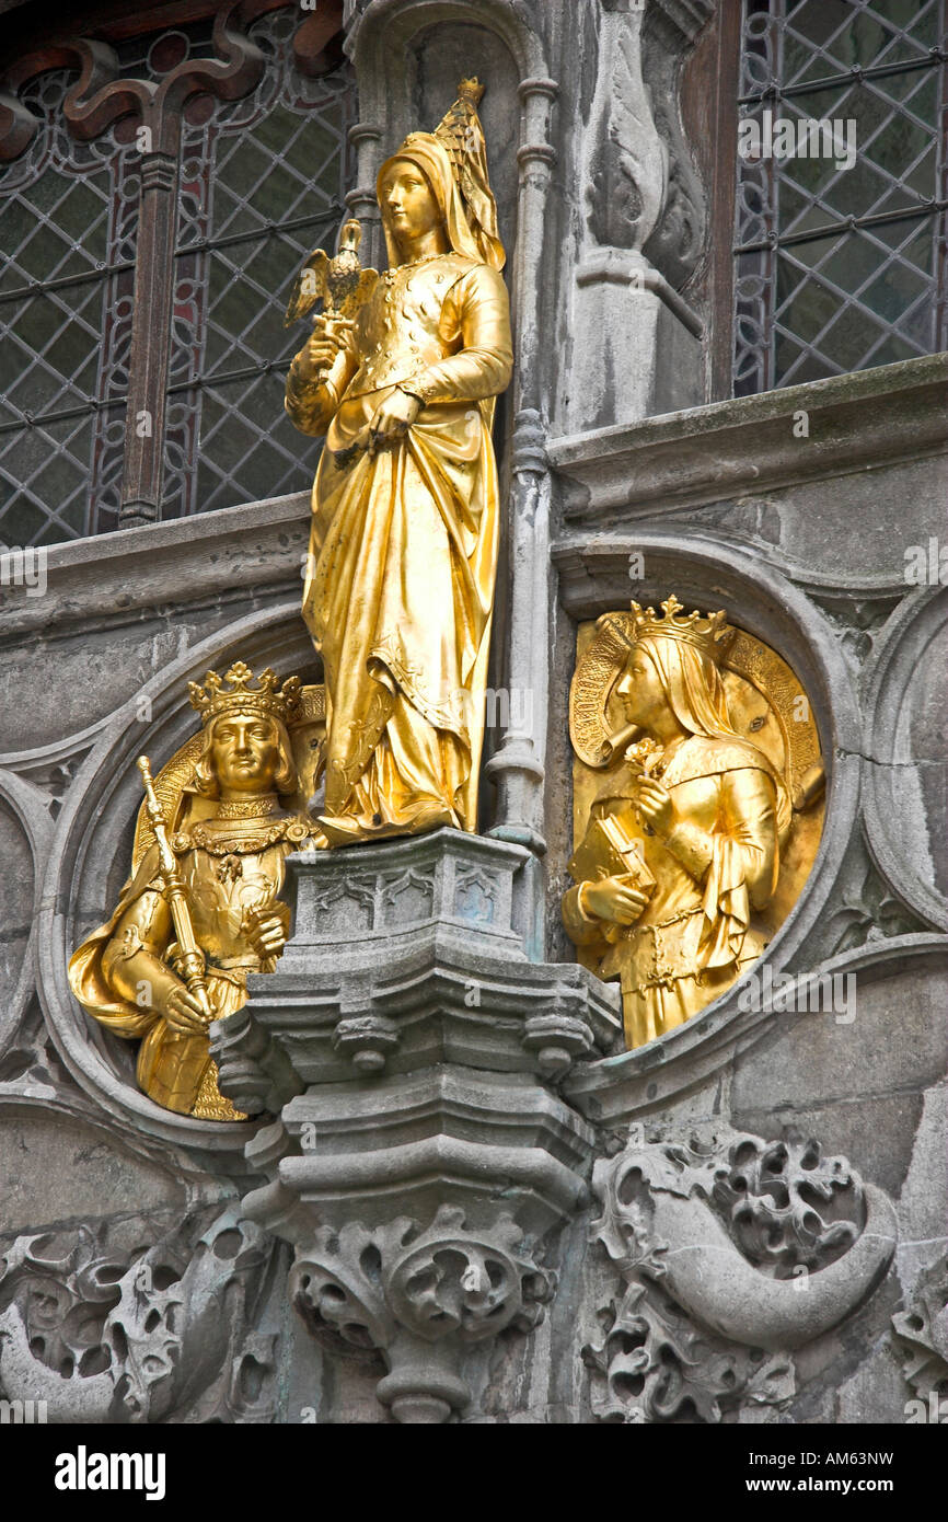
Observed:
[[[117,511],[128,390],[140,154],[111,132],[78,143],[75,75],[23,90],[41,120],[0,169],[0,542],[46,545]]]

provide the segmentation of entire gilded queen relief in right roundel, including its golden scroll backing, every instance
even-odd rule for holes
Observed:
[[[726,992],[790,912],[820,839],[819,735],[781,656],[673,595],[580,632],[571,737],[563,922],[619,980],[639,1047]]]

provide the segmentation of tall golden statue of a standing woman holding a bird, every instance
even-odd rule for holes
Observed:
[[[327,694],[329,845],[476,828],[513,350],[476,81],[379,170],[390,268],[317,318],[286,411],[326,434],[303,616]]]

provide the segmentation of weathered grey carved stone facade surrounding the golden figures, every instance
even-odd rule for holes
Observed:
[[[488,731],[481,837],[294,860],[280,970],[215,1030],[248,1125],[140,1094],[65,962],[123,880],[134,758],[190,732],[187,680],[237,656],[318,680],[307,498],[53,546],[43,597],[0,592],[3,1397],[85,1422],[901,1423],[943,1390],[948,364],[705,402],[676,82],[712,9],[347,0],[355,215],[457,76],[490,82],[517,361],[491,685],[530,702]],[[568,693],[577,626],[673,587],[811,696],[826,826],[765,966],[855,998],[732,989],[625,1053],[560,924]]]

